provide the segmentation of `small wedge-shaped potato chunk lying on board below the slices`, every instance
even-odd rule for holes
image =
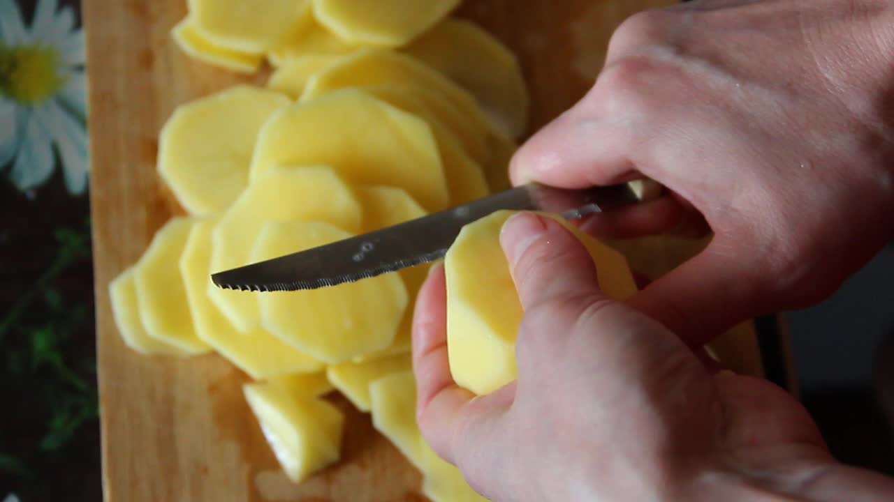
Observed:
[[[303,481],[338,461],[344,416],[337,408],[275,383],[250,383],[242,389],[291,481]]]

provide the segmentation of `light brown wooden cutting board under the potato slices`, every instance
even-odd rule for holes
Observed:
[[[533,127],[575,103],[630,13],[672,0],[469,0],[479,21],[519,54],[533,96]],[[107,285],[153,233],[181,213],[156,176],[157,134],[174,107],[247,78],[190,61],[168,36],[185,0],[85,0],[89,54],[91,197],[105,499],[110,502],[423,500],[418,474],[367,415],[348,412],[343,461],[295,486],[245,405],[245,377],[217,356],[139,356],[114,327]],[[254,78],[258,83],[262,77]],[[682,251],[681,251],[682,250]],[[655,271],[690,253],[670,241],[639,247]],[[749,328],[722,352],[760,372]]]

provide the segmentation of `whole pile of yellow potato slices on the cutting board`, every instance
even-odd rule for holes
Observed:
[[[419,434],[413,297],[426,267],[328,289],[217,289],[212,272],[404,222],[509,186],[527,126],[519,64],[448,17],[459,0],[189,0],[181,49],[275,71],[181,105],[158,172],[189,216],[110,284],[122,339],[147,355],[215,351],[293,481],[338,461],[338,389],[424,474],[426,496],[482,499]]]

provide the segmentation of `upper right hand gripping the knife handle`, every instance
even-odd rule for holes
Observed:
[[[894,233],[894,4],[703,0],[640,13],[603,73],[522,146],[516,184],[648,177],[673,197],[600,216],[597,237],[712,244],[632,302],[691,347],[828,296]],[[598,225],[598,226],[597,226]]]

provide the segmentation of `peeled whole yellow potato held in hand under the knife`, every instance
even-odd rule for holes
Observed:
[[[453,379],[478,395],[515,380],[515,338],[523,315],[500,230],[512,212],[493,213],[468,224],[444,257],[447,277],[447,347]],[[568,222],[593,257],[600,287],[623,299],[637,285],[626,258]]]

